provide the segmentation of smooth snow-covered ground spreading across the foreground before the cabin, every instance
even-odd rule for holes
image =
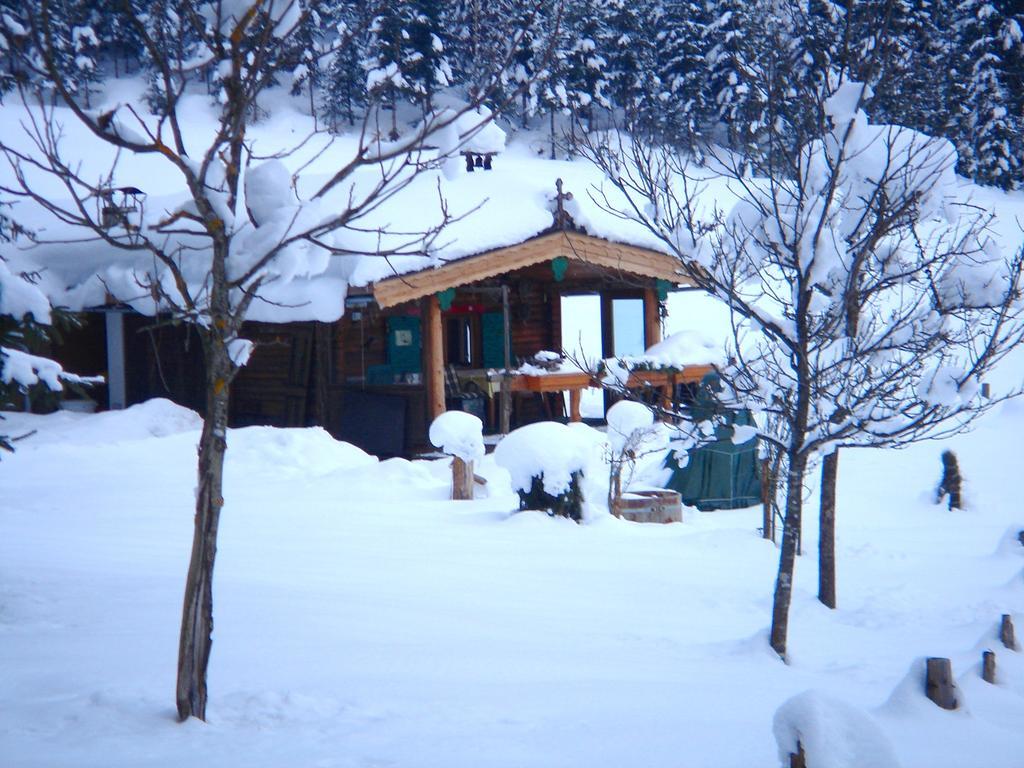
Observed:
[[[995,639],[1001,613],[1024,629],[1022,406],[948,445],[965,511],[931,503],[943,443],[843,455],[840,608],[814,598],[812,519],[788,666],[757,509],[575,525],[512,514],[490,458],[489,497],[447,502],[443,461],[234,430],[209,723],[185,725],[196,417],[8,417],[37,432],[0,462],[3,766],[776,766],[776,711],[808,689],[780,733],[804,718],[829,765],[857,764],[851,734],[906,768],[1024,760],[1024,654]],[[952,658],[959,711],[924,697],[927,655]]]

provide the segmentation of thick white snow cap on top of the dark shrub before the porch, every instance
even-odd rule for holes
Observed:
[[[498,443],[495,461],[512,476],[514,490],[529,490],[532,479],[543,476],[544,489],[558,496],[568,490],[572,473],[584,471],[593,460],[591,433],[596,430],[583,425],[527,424]]]

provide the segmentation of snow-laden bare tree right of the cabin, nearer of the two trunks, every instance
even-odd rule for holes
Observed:
[[[723,380],[765,417],[785,467],[771,628],[783,657],[810,463],[953,434],[1020,392],[984,399],[979,385],[1024,336],[1024,255],[1005,255],[988,216],[957,198],[952,146],[871,125],[869,97],[833,81],[816,134],[769,129],[761,158],[712,148],[707,168],[622,134],[582,139],[608,177],[597,202],[656,234],[731,309]]]

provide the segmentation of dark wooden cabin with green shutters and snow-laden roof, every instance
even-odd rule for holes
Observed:
[[[591,194],[602,182],[597,169],[542,160],[527,147],[496,155],[476,153],[456,160],[455,172],[417,177],[360,222],[361,236],[350,236],[346,248],[362,255],[333,257],[326,269],[266,287],[244,330],[256,346],[233,384],[236,426],[318,424],[374,453],[408,455],[427,446],[430,420],[447,408],[476,409],[490,431],[579,418],[580,392],[591,383],[580,371],[488,375],[560,350],[566,295],[600,296],[603,356],[618,351],[617,300],[642,301],[645,346],[659,340],[660,305],[687,281],[650,232],[602,210]],[[374,255],[375,225],[428,229],[438,217],[438,193],[457,220],[428,254]],[[102,407],[165,396],[201,410],[198,339],[189,343],[186,326],[146,316],[152,310],[138,297],[134,271],[145,264],[83,249],[76,257],[75,271],[61,271],[59,255],[47,262],[68,286],[61,303],[92,310],[57,357],[70,370],[109,377]],[[110,295],[137,300],[104,304]],[[631,384],[674,383],[641,378]],[[556,392],[569,394],[567,413],[560,413],[561,397],[545,394]]]

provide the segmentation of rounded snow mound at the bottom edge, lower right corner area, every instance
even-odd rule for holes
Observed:
[[[899,768],[892,744],[867,713],[817,690],[784,701],[772,729],[782,765],[799,741],[814,768]]]

